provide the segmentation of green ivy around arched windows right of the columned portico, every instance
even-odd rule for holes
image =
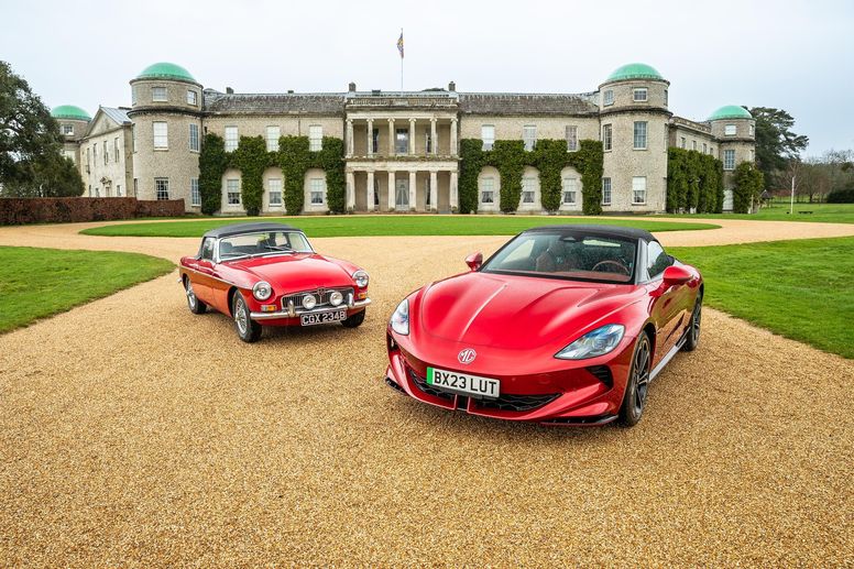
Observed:
[[[523,141],[499,140],[491,151],[483,150],[479,139],[460,141],[460,211],[478,210],[478,176],[484,166],[493,166],[501,176],[501,210],[516,211],[522,197],[525,166],[539,172],[543,209],[557,211],[561,201],[561,171],[571,166],[581,174],[582,210],[587,215],[602,212],[602,143],[579,141],[576,152],[567,152],[566,140],[539,140],[535,149],[525,151]]]

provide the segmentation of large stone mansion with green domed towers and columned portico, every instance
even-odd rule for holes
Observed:
[[[484,150],[496,140],[566,139],[568,152],[580,140],[602,141],[604,212],[665,210],[668,146],[712,154],[723,162],[726,199],[731,172],[754,160],[754,120],[738,106],[721,107],[704,121],[669,110],[667,81],[644,64],[612,73],[595,91],[583,94],[360,91],[239,94],[202,88],[186,69],[157,63],[130,81],[130,107],[100,107],[91,118],[74,106],[52,110],[65,135],[65,153],[79,165],[87,195],[184,199],[198,212],[198,157],[202,136],[237,149],[242,135],[264,138],[278,149],[282,135],[308,136],[319,150],[324,136],[343,140],[346,207],[360,211],[457,211],[459,142],[478,139]],[[581,211],[581,176],[561,172],[560,211]],[[263,174],[262,212],[285,211],[283,174]],[[478,177],[478,211],[500,211],[501,177],[484,167]],[[240,171],[222,176],[221,215],[244,212]],[[309,169],[305,214],[328,211],[324,171]],[[540,212],[539,175],[527,167],[522,178],[521,212]]]

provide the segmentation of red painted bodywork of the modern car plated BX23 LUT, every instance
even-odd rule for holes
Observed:
[[[473,256],[467,259],[472,265]],[[479,265],[479,263],[478,263]],[[431,283],[408,296],[409,335],[387,328],[386,377],[412,397],[468,413],[546,424],[583,424],[614,418],[621,407],[637,336],[655,330],[653,366],[676,346],[690,322],[700,291],[700,273],[688,265],[666,270],[646,284],[589,283],[472,271]],[[681,281],[681,282],[678,282]],[[587,360],[555,354],[584,333],[622,324],[616,349]],[[461,364],[457,355],[472,348],[477,358]],[[440,398],[425,393],[409,371],[426,376],[427,366],[501,381],[501,394],[559,394],[530,411],[483,407],[471,397]],[[607,365],[609,387],[587,368]]]

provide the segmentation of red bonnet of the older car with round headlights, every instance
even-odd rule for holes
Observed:
[[[266,281],[276,295],[308,291],[318,286],[353,286],[351,275],[322,255],[297,253],[252,258],[229,263],[232,270],[245,271]]]

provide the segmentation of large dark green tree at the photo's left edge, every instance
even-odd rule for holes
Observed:
[[[3,195],[79,196],[83,179],[63,156],[59,124],[11,66],[0,62],[0,184]]]

